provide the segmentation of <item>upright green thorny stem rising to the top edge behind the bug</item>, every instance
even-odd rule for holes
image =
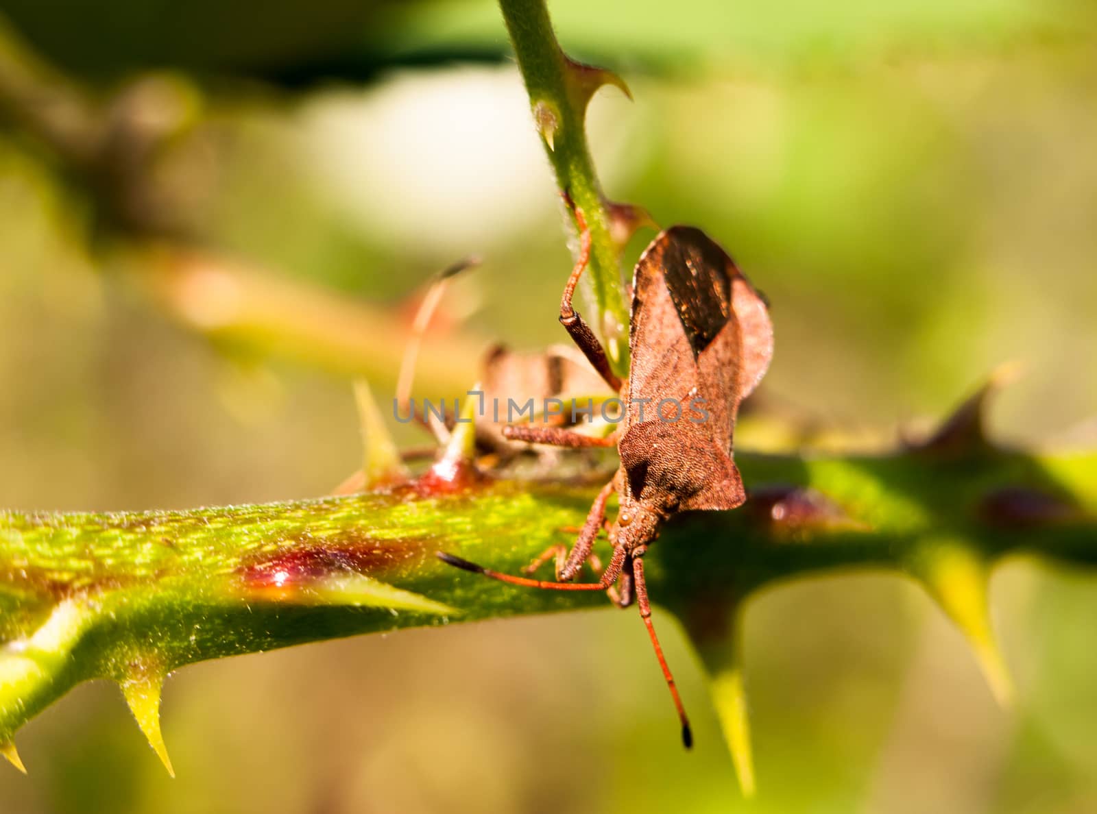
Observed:
[[[610,364],[624,376],[629,372],[629,308],[620,252],[610,236],[610,218],[584,127],[590,94],[612,80],[604,72],[576,66],[565,56],[543,0],[499,0],[499,8],[556,183],[583,211],[590,229],[587,273],[599,312],[598,327]]]

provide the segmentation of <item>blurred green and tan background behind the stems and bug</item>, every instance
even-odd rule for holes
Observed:
[[[1092,2],[550,10],[565,48],[620,70],[636,99],[591,105],[607,193],[703,227],[772,301],[777,355],[740,445],[796,434],[765,418],[823,428],[819,444],[883,444],[1015,359],[1027,375],[995,432],[1093,444]],[[399,348],[382,336],[376,362],[310,352],[296,347],[308,325],[338,321],[326,307],[406,323],[467,253],[485,263],[453,286],[443,346],[563,341],[558,204],[488,0],[4,0],[2,13],[0,506],[329,491],[360,459],[348,374],[391,392]],[[58,146],[80,129],[70,93],[105,118],[106,147]],[[242,295],[183,286],[166,306],[150,292],[177,278],[154,242],[246,263],[250,291],[289,291],[291,307],[273,328],[206,336],[195,326]],[[292,307],[312,296],[321,305]],[[306,329],[278,330],[298,317]],[[472,357],[453,365],[475,375]],[[1097,583],[1015,562],[993,588],[1013,711],[898,577],[756,599],[753,803],[669,621],[692,754],[641,625],[607,609],[190,667],[165,698],[174,781],[116,688],[83,686],[24,730],[31,776],[0,770],[0,811],[1097,811]]]

